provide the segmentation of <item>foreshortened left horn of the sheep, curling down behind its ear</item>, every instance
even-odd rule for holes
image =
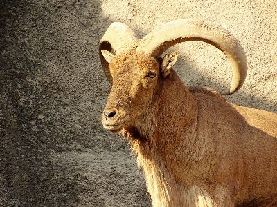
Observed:
[[[123,50],[126,50],[131,46],[132,42],[138,39],[134,31],[125,25],[125,23],[114,22],[111,23],[104,36],[99,43],[99,56],[102,64],[102,68],[105,72],[105,75],[112,85],[111,72],[109,71],[109,63],[105,60],[102,55],[101,50],[108,50],[111,52],[114,50],[116,55],[118,55]]]

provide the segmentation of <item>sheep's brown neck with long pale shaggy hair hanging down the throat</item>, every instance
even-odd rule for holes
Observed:
[[[174,71],[170,72],[166,79],[161,79],[159,87],[157,91],[160,94],[156,96],[160,97],[153,98],[149,104],[151,108],[147,107],[148,110],[145,110],[143,118],[134,128],[125,128],[121,131],[132,144],[138,164],[143,168],[152,205],[215,206],[206,190],[190,183],[189,180],[179,180],[177,175],[170,173],[179,162],[186,162],[184,159],[190,158],[189,153],[184,158],[184,150],[183,153],[178,153],[179,146],[188,145],[190,140],[185,144],[177,137],[181,137],[180,135],[186,134],[187,131],[191,135],[192,130],[195,130],[197,103]],[[169,98],[162,99],[165,94]],[[175,130],[168,129],[168,127],[174,128],[176,124],[179,127]],[[180,127],[180,124],[184,127]],[[182,130],[179,130],[180,128]],[[173,154],[175,160],[172,161]]]

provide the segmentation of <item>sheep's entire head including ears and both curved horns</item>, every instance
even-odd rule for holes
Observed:
[[[138,39],[124,23],[112,23],[100,40],[102,68],[112,88],[102,114],[102,124],[111,132],[134,126],[151,108],[159,95],[178,52],[161,55],[171,46],[184,41],[204,41],[222,50],[231,61],[231,87],[222,95],[238,91],[247,75],[244,50],[233,35],[211,23],[180,19],[166,23]],[[166,87],[166,86],[163,86]]]

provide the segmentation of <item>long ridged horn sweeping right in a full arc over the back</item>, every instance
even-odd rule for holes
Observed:
[[[231,87],[222,95],[238,91],[247,76],[247,59],[240,43],[224,28],[196,19],[170,21],[153,30],[139,42],[136,51],[160,57],[171,46],[184,41],[204,41],[222,50],[231,62],[233,77]]]

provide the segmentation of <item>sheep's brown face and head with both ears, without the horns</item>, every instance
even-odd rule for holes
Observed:
[[[148,109],[152,99],[157,97],[159,84],[177,61],[178,53],[169,52],[160,63],[151,55],[134,50],[123,51],[120,55],[102,50],[109,61],[113,86],[103,112],[102,123],[108,130],[116,131],[122,126],[131,127],[134,121]]]

